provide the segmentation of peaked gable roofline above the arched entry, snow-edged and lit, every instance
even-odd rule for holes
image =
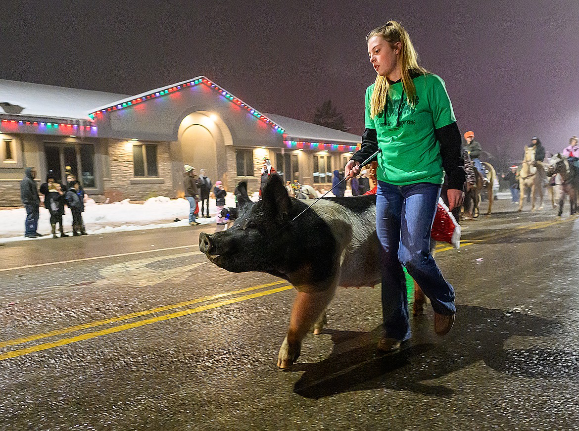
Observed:
[[[91,119],[94,119],[94,118],[98,119],[98,116],[105,115],[105,114],[107,114],[107,112],[118,111],[119,109],[128,108],[131,105],[142,103],[145,100],[149,100],[151,98],[156,98],[156,97],[162,97],[165,94],[174,93],[174,92],[177,92],[181,89],[184,89],[185,87],[191,87],[191,86],[196,86],[196,85],[206,85],[210,89],[213,89],[213,90],[217,91],[218,93],[220,93],[221,96],[228,99],[231,103],[234,103],[241,108],[245,108],[245,110],[247,110],[250,114],[255,116],[255,118],[270,125],[273,129],[276,130],[276,132],[279,132],[279,133],[285,132],[283,127],[281,127],[277,123],[275,123],[272,120],[270,120],[269,118],[267,118],[265,115],[263,115],[257,109],[254,109],[253,107],[251,107],[250,105],[245,103],[240,98],[233,96],[232,93],[230,93],[227,90],[223,89],[222,87],[218,86],[217,84],[215,84],[214,82],[212,82],[210,79],[206,78],[206,76],[203,76],[203,75],[197,76],[196,78],[193,78],[193,79],[188,79],[187,81],[176,82],[176,83],[168,85],[168,86],[159,87],[155,90],[150,90],[150,91],[145,92],[145,93],[137,94],[133,97],[127,97],[127,98],[118,100],[112,104],[107,104],[107,105],[98,107],[93,112],[91,112],[89,114],[89,117]]]

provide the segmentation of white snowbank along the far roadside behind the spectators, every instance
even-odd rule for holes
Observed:
[[[324,191],[322,191],[324,192]],[[510,199],[510,193],[501,192],[499,199]],[[327,195],[334,196],[332,193]],[[346,190],[346,196],[351,196],[350,189]],[[258,200],[258,192],[252,194],[251,199]],[[235,206],[233,193],[227,193],[225,198],[226,207]],[[215,225],[215,199],[209,199],[210,218],[197,218],[200,224]],[[137,231],[141,229],[157,229],[175,226],[189,225],[189,202],[186,199],[169,199],[164,196],[151,198],[144,203],[131,203],[129,199],[122,202],[109,204],[97,204],[88,199],[85,203],[85,212],[82,213],[86,232],[90,235]],[[24,208],[0,210],[0,243],[38,239],[52,239],[52,235],[42,238],[24,238],[24,221],[26,211]],[[178,221],[174,221],[179,219]],[[63,216],[64,231],[72,235],[72,214],[66,208]],[[41,206],[38,220],[38,232],[50,233],[50,214]]]

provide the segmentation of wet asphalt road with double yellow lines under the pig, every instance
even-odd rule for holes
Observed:
[[[342,289],[288,372],[294,291],[210,264],[201,228],[6,244],[0,429],[579,429],[579,224],[495,207],[439,246],[449,335],[429,307],[379,355],[379,288]]]

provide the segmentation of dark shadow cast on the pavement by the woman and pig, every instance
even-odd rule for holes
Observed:
[[[428,382],[461,370],[477,361],[506,375],[526,378],[579,378],[579,353],[557,348],[529,350],[505,349],[515,335],[548,337],[562,334],[554,320],[518,312],[457,305],[457,320],[450,334],[435,338],[431,317],[419,316],[412,326],[413,338],[402,350],[383,355],[376,350],[381,328],[371,333],[328,330],[334,352],[315,364],[296,364],[294,371],[305,371],[295,383],[294,392],[320,399],[336,393],[368,389],[409,390],[427,396],[450,397],[455,390]],[[353,337],[360,334],[357,343]],[[435,342],[433,342],[435,341]],[[344,351],[341,342],[353,348]],[[477,384],[478,376],[472,376]]]

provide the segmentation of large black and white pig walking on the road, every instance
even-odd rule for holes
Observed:
[[[318,333],[336,287],[380,283],[376,196],[319,200],[290,198],[277,174],[262,199],[237,197],[239,218],[213,235],[201,233],[199,249],[215,265],[232,272],[261,271],[288,280],[298,291],[277,366],[291,367],[310,328]]]

